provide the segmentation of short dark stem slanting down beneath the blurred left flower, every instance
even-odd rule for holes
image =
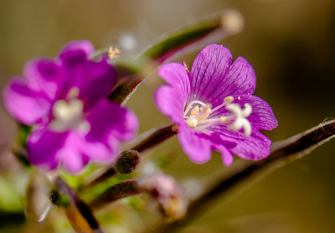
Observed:
[[[54,183],[70,199],[71,204],[79,210],[80,214],[87,221],[92,231],[95,233],[103,233],[93,213],[86,205],[86,203],[83,200],[81,200],[76,191],[71,189],[60,177],[57,177]]]

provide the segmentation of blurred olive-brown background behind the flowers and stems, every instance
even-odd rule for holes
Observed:
[[[233,60],[243,56],[254,67],[254,94],[271,105],[279,122],[276,129],[265,134],[273,141],[283,140],[334,117],[332,0],[2,0],[0,88],[11,76],[21,74],[28,59],[55,56],[70,40],[87,39],[96,48],[117,45],[121,55],[136,55],[161,34],[227,7],[241,11],[245,28],[238,35],[212,42],[228,47]],[[199,51],[176,61],[183,59],[191,67]],[[152,93],[162,83],[152,74],[127,103],[138,115],[140,132],[169,123],[152,102]],[[1,106],[0,144],[10,144],[16,130],[15,122]],[[244,182],[216,200],[181,232],[335,232],[334,142],[253,180],[251,185]],[[201,180],[223,166],[217,153],[206,164],[193,164],[183,154],[177,138],[150,154],[174,154],[175,160],[165,172],[184,184]],[[15,209],[24,205],[20,193],[27,177],[19,168],[6,165],[11,159],[7,153],[0,157],[0,232],[71,232],[61,209],[53,210],[42,223],[15,214]],[[5,215],[6,211],[12,216]],[[140,219],[136,211],[123,217],[128,219],[115,221],[113,232],[141,232],[150,222]],[[106,218],[100,221],[108,222]]]

